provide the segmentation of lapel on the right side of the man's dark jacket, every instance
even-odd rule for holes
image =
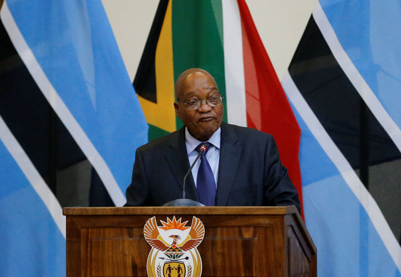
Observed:
[[[223,122],[221,127],[217,206],[226,206],[240,164],[242,146],[230,125]]]

